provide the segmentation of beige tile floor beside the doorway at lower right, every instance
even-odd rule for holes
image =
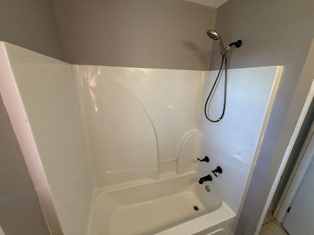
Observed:
[[[283,225],[279,223],[271,211],[267,211],[260,235],[289,235]]]

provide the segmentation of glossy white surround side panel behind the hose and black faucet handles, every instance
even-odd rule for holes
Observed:
[[[204,134],[202,155],[210,162],[195,163],[194,167],[213,177],[212,187],[222,200],[237,213],[253,168],[272,103],[277,91],[282,67],[259,67],[228,70],[226,111],[223,119],[209,122],[203,114],[200,130]],[[216,78],[217,71],[205,74],[203,103]],[[209,104],[209,117],[220,117],[223,107],[224,74]],[[253,164],[252,164],[253,163]],[[216,178],[211,170],[221,166],[223,173]],[[252,168],[251,168],[252,167]]]

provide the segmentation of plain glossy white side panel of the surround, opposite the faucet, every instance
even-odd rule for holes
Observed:
[[[72,65],[10,44],[5,51],[62,231],[84,234],[93,184]]]

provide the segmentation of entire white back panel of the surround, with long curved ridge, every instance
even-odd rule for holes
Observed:
[[[98,186],[174,171],[187,132],[196,130],[202,71],[78,66],[84,120]],[[165,165],[165,164],[163,164]]]

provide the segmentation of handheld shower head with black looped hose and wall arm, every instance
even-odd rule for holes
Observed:
[[[223,42],[222,42],[222,39],[221,39],[220,35],[219,35],[216,31],[209,29],[209,30],[207,30],[207,35],[209,36],[209,38],[211,38],[212,40],[217,41],[217,42],[219,43],[219,49],[220,49],[220,54],[221,54],[222,58],[221,58],[221,64],[220,64],[220,68],[219,68],[219,71],[218,71],[216,80],[215,80],[214,84],[212,85],[212,88],[211,88],[211,90],[210,90],[210,92],[209,92],[209,95],[208,95],[208,97],[207,97],[207,100],[206,100],[206,103],[205,103],[205,109],[204,109],[204,111],[205,111],[205,117],[206,117],[209,121],[211,121],[211,122],[218,122],[218,121],[220,121],[220,120],[224,117],[225,108],[226,108],[227,69],[228,69],[228,68],[227,68],[227,67],[228,67],[228,66],[227,66],[227,53],[228,53],[228,51],[230,50],[230,48],[231,48],[232,46],[240,47],[240,46],[242,45],[242,41],[241,41],[241,40],[238,40],[238,41],[236,41],[236,42],[233,42],[233,43],[229,44],[229,46],[224,47],[224,44],[223,44]],[[219,78],[220,72],[221,72],[221,70],[222,70],[222,66],[223,66],[223,64],[224,64],[224,61],[225,61],[225,90],[224,90],[224,104],[223,104],[222,114],[221,114],[220,118],[217,118],[216,120],[211,120],[211,119],[208,117],[208,115],[207,115],[207,111],[206,111],[206,109],[207,109],[207,104],[208,104],[208,101],[209,101],[209,97],[211,96],[211,94],[212,94],[212,92],[213,92],[213,90],[214,90],[214,88],[215,88],[215,86],[216,86],[216,83],[217,83],[217,81],[218,81],[218,78]]]

